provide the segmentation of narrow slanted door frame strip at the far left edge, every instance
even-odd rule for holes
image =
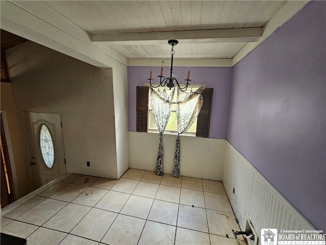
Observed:
[[[6,114],[5,110],[1,110],[1,114],[2,114],[2,119],[3,119],[3,124],[4,124],[5,135],[6,135],[6,143],[7,143],[8,155],[9,155],[9,161],[10,161],[10,167],[11,167],[12,181],[14,184],[15,200],[18,200],[20,197],[20,194],[19,194],[19,188],[18,188],[16,164],[15,164],[14,154],[12,151],[12,143],[11,143],[11,139],[10,139],[8,119],[7,119],[7,114]]]

